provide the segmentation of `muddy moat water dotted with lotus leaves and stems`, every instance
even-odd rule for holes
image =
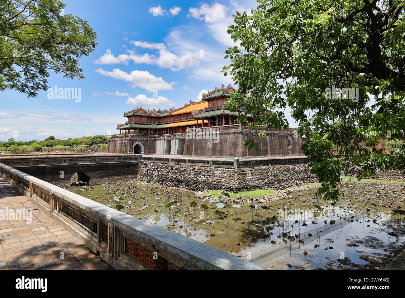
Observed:
[[[405,184],[350,182],[336,205],[316,186],[253,205],[139,181],[68,189],[271,270],[375,269],[405,243]]]

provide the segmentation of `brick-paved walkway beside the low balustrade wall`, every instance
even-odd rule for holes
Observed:
[[[15,210],[32,211],[18,220]],[[0,270],[108,270],[111,267],[0,178]]]

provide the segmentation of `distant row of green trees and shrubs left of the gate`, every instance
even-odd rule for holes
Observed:
[[[43,141],[15,141],[9,138],[5,143],[0,143],[0,152],[42,152],[42,151],[60,151],[60,152],[85,152],[105,151],[107,150],[108,137],[105,135],[95,135],[94,137],[81,137],[69,139],[56,139],[53,135]]]

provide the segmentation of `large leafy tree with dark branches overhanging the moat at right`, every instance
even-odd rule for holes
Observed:
[[[289,126],[290,107],[324,199],[343,195],[338,186],[351,165],[359,179],[405,169],[404,154],[377,149],[379,139],[404,138],[404,1],[259,2],[228,27],[241,45],[226,51],[224,75],[239,86],[228,108],[245,107],[252,128],[270,129]],[[257,148],[254,137],[244,145]]]

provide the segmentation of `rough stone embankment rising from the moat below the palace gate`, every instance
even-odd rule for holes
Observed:
[[[251,189],[281,190],[317,182],[308,165],[264,166],[225,169],[190,165],[142,162],[139,180],[192,191],[220,189],[232,192]]]

